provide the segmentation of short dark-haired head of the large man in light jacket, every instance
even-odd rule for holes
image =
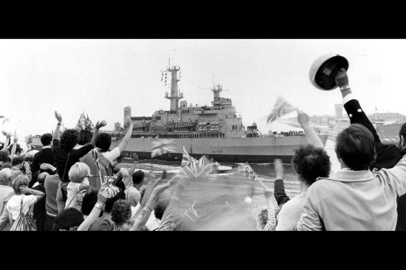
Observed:
[[[351,170],[368,170],[376,156],[374,136],[365,126],[352,124],[337,135],[335,153]]]

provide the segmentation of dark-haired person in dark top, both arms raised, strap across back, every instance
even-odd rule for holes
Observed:
[[[58,124],[53,134],[52,154],[55,160],[55,167],[58,170],[59,179],[61,180],[56,195],[58,212],[61,212],[65,209],[67,199],[67,184],[70,182],[68,175],[69,170],[75,163],[79,162],[80,158],[93,149],[99,129],[106,126],[107,123],[105,121],[97,122],[90,143],[79,149],[74,149],[75,145],[79,142],[79,132],[76,129],[67,129],[62,133],[59,142],[59,128],[62,123],[62,117],[56,111],[55,118],[58,120]]]

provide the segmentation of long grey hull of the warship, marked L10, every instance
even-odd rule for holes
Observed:
[[[328,135],[320,135],[325,145]],[[112,138],[111,148],[116,147],[121,138]],[[122,151],[122,156],[133,158],[137,155],[140,160],[151,159],[151,142],[155,138],[131,138]],[[158,139],[159,140],[159,139]],[[294,149],[309,142],[306,136],[285,137],[253,137],[253,138],[181,138],[173,139],[177,151],[165,153],[154,159],[163,161],[181,161],[183,146],[193,158],[205,155],[207,158],[226,163],[270,163],[281,159],[290,163]],[[37,142],[38,141],[38,142]],[[38,138],[33,138],[32,144],[37,149],[42,148]]]

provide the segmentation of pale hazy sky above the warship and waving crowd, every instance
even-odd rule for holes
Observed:
[[[57,110],[65,128],[84,111],[112,130],[125,106],[133,117],[168,110],[170,89],[160,81],[168,58],[181,67],[183,100],[211,105],[214,81],[243,124],[255,121],[263,134],[276,128],[266,115],[278,95],[309,115],[334,115],[340,90],[319,90],[309,79],[326,53],[348,59],[349,84],[366,113],[377,106],[406,114],[404,48],[406,40],[0,40],[0,115],[9,118],[0,128],[20,138],[51,132]]]

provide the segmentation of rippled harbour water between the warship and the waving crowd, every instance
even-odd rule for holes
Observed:
[[[332,163],[332,171],[340,169],[340,164],[337,161],[334,153],[334,138],[327,140],[325,149],[330,156]],[[227,211],[221,209],[232,209],[244,205],[244,200],[248,194],[251,185],[254,186],[254,195],[252,197],[251,208],[247,212],[252,217],[257,218],[262,209],[266,209],[266,201],[263,193],[263,188],[259,182],[251,181],[245,174],[238,171],[238,164],[222,163],[221,165],[230,166],[232,169],[222,174],[209,174],[205,179],[189,179],[186,183],[180,205],[183,211],[186,211],[193,203],[196,202],[195,209],[202,216],[210,216],[216,211]],[[120,166],[129,168],[130,164],[122,163]],[[161,176],[162,171],[166,170],[166,179],[175,177],[181,171],[180,162],[163,162],[154,160],[140,161],[139,168],[147,175]],[[251,164],[252,169],[257,176],[271,189],[274,190],[274,181],[276,173],[273,163]],[[179,178],[174,179],[177,183]],[[166,180],[163,180],[166,181]],[[297,180],[296,172],[290,164],[284,164],[284,184],[286,194],[293,198],[300,193],[300,186]],[[169,189],[171,194],[174,192],[175,185]],[[274,198],[274,205],[277,206]],[[245,211],[245,210],[242,210]],[[241,214],[241,213],[240,213]],[[238,217],[235,216],[238,220]],[[223,228],[224,226],[221,226]],[[235,229],[235,227],[233,227]],[[244,227],[240,229],[245,229]]]

